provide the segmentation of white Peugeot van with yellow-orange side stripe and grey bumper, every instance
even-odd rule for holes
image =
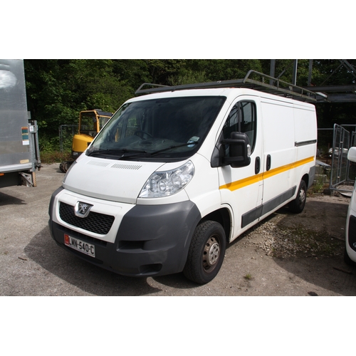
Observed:
[[[314,105],[218,83],[160,88],[115,112],[53,193],[59,246],[125,276],[208,283],[227,244],[285,204],[303,210]]]

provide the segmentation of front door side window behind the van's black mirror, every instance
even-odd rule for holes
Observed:
[[[231,132],[244,132],[248,136],[251,152],[256,142],[256,104],[252,101],[240,101],[231,109],[223,128],[224,139],[230,138]],[[226,147],[227,149],[227,147]],[[228,152],[226,152],[228,154]]]

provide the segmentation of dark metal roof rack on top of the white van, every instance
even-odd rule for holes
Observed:
[[[260,80],[255,80],[250,78],[259,77]],[[267,83],[267,81],[269,83]],[[156,88],[142,89],[145,86],[153,86]],[[283,80],[273,78],[270,75],[259,73],[256,70],[248,70],[248,73],[243,79],[234,80],[219,80],[217,82],[209,83],[197,83],[197,84],[185,84],[185,85],[159,85],[152,83],[143,83],[140,88],[135,92],[136,95],[148,94],[148,93],[162,93],[167,91],[175,90],[186,90],[186,89],[202,89],[202,88],[250,88],[255,90],[260,90],[265,93],[270,93],[274,95],[284,96],[288,98],[293,98],[296,100],[316,102],[317,94],[305,88],[298,87]]]

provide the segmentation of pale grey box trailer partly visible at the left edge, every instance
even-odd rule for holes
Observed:
[[[0,59],[0,188],[36,187],[37,123],[27,111],[23,60]]]

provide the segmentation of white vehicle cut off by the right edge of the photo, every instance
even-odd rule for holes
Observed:
[[[347,152],[347,159],[356,162],[356,147],[350,147]],[[349,208],[347,210],[346,231],[345,231],[345,263],[356,265],[356,182],[352,190]]]

